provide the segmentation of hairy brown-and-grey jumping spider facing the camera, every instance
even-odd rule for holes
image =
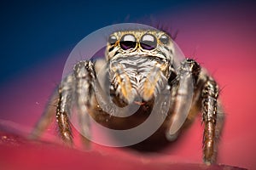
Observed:
[[[203,161],[208,165],[216,161],[224,125],[218,85],[195,59],[177,61],[171,36],[150,29],[115,31],[108,38],[105,58],[81,60],[74,65],[73,72],[53,94],[51,101],[57,101],[55,111],[45,111],[33,136],[44,131],[51,113],[55,112],[61,139],[72,145],[69,116],[73,105],[77,106],[79,126],[85,134],[90,133],[88,115],[104,127],[125,130],[145,122],[154,110],[158,111],[157,116],[164,115],[163,123],[148,139],[131,146],[151,149],[153,145],[175,140],[201,113]],[[118,116],[128,114],[131,105],[137,106],[134,114]],[[117,107],[128,109],[119,111]],[[82,139],[88,143],[83,135]]]

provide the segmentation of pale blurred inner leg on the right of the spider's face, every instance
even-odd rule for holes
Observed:
[[[188,122],[188,116],[191,114],[191,105],[193,105],[194,86],[199,73],[199,65],[191,59],[185,59],[178,67],[177,77],[171,82],[172,99],[174,101],[171,111],[171,127],[166,133],[166,138],[170,141],[177,139],[184,122]]]

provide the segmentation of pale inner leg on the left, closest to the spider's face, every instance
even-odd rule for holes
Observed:
[[[79,127],[81,130],[82,142],[88,146],[90,141],[90,119],[89,110],[95,95],[94,83],[96,81],[96,73],[94,65],[91,61],[80,61],[74,67],[74,75],[76,82],[76,105],[78,110]],[[87,138],[85,138],[87,137]]]

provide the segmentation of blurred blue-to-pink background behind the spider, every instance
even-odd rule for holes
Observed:
[[[60,82],[68,54],[92,31],[123,22],[162,25],[219,83],[226,123],[218,162],[256,168],[256,3],[62,1],[0,3],[0,120],[29,131]],[[201,162],[201,118],[165,159]],[[111,151],[111,150],[110,150]]]

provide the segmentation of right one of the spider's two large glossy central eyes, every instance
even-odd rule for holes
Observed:
[[[153,35],[145,34],[141,38],[140,45],[143,49],[152,50],[152,49],[156,48],[157,41]]]

